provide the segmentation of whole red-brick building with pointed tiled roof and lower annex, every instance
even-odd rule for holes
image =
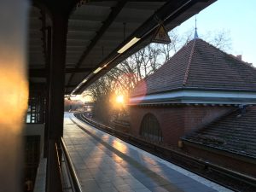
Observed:
[[[228,152],[229,155],[234,154],[238,161],[253,161],[252,158],[255,158],[253,155],[247,155],[247,160],[240,158],[240,156],[244,157],[245,153],[238,153],[240,149],[237,145],[230,143],[231,141],[237,143],[236,140],[241,139],[238,143],[243,148],[247,148],[246,153],[255,154],[256,110],[254,107],[248,107],[248,111],[244,108],[254,104],[256,104],[256,69],[200,38],[195,38],[183,46],[157,72],[137,84],[132,91],[131,134],[152,142],[183,147],[187,153],[214,162],[219,162],[217,157],[223,151]],[[229,125],[223,123],[218,129],[213,129],[213,122],[222,122],[224,118],[236,116],[241,110],[246,114],[253,113],[250,116],[252,120],[247,120],[247,123],[243,124],[242,119],[245,116],[241,114],[241,125],[226,127]],[[236,117],[230,118],[230,122],[232,121],[236,122]],[[211,129],[208,128],[210,125]],[[236,128],[252,131],[253,138],[244,137],[242,134],[233,136]],[[208,133],[212,130],[215,132]],[[229,139],[223,137],[226,130],[229,130],[229,133],[226,133],[230,136]],[[212,146],[213,141],[222,146],[225,143],[229,149]],[[233,147],[236,149],[233,150]],[[210,148],[218,148],[216,149],[218,152],[214,151],[215,154],[217,153],[216,160],[213,158],[213,149]],[[207,158],[209,151],[212,155]],[[235,159],[231,158],[231,160]],[[224,155],[222,160],[228,161],[227,155]],[[237,162],[223,165],[225,164],[235,166],[236,169]],[[252,163],[249,167],[255,165]],[[244,172],[249,171],[250,168]]]

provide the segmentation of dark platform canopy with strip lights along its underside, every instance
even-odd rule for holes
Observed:
[[[65,94],[79,94],[119,62],[150,44],[160,24],[170,31],[213,2],[35,0],[29,18],[29,81],[44,84],[49,75],[52,21],[45,7],[52,12],[65,6],[70,10],[64,55]]]

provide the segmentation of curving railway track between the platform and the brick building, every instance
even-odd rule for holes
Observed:
[[[222,166],[214,165],[205,160],[198,160],[195,157],[175,151],[172,148],[166,148],[159,144],[150,143],[140,137],[134,137],[122,131],[114,130],[107,125],[102,125],[92,119],[88,119],[84,113],[74,113],[74,116],[84,123],[93,125],[99,130],[105,131],[114,137],[119,137],[127,143],[131,143],[132,145],[142,148],[151,154],[155,154],[164,160],[168,160],[177,166],[181,166],[184,169],[189,170],[189,172],[194,172],[202,177],[206,177],[207,179],[215,183],[219,183],[228,189],[241,192],[256,191],[255,177],[249,177]]]

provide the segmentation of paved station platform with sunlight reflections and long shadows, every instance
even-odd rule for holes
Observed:
[[[64,141],[84,192],[229,192],[65,113]]]

